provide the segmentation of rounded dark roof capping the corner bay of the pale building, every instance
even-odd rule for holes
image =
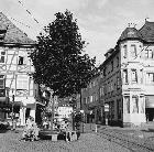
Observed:
[[[138,39],[138,40],[142,40],[143,36],[142,36],[142,34],[141,34],[135,28],[127,28],[127,29],[122,32],[122,34],[121,34],[119,41],[123,41],[123,40],[127,40],[127,39]]]

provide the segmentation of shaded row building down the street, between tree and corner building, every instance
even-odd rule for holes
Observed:
[[[100,100],[100,75],[96,75],[86,88],[81,89],[81,110],[85,122],[101,123],[103,117],[103,102]]]

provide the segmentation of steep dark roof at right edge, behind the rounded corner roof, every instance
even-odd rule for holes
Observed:
[[[154,42],[154,22],[145,21],[145,24],[139,30],[146,42]]]

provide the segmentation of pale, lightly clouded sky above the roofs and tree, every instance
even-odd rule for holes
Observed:
[[[97,65],[116,46],[129,23],[140,29],[146,18],[154,22],[153,6],[154,0],[0,0],[0,11],[33,40],[55,20],[55,13],[69,10],[77,19],[82,40],[88,43],[85,52],[96,56]]]

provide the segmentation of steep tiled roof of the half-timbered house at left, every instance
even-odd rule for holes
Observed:
[[[36,44],[16,28],[2,12],[0,12],[0,41],[11,44]]]

